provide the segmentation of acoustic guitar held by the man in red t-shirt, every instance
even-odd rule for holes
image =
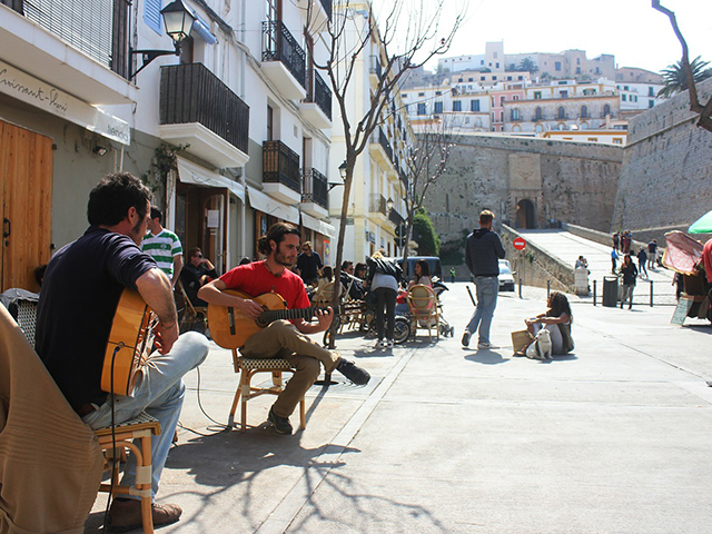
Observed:
[[[222,348],[239,348],[245,342],[270,323],[279,319],[303,318],[309,320],[316,310],[326,307],[312,306],[308,308],[287,309],[287,303],[276,293],[264,293],[258,297],[234,290],[226,290],[228,295],[236,295],[259,304],[264,312],[255,320],[246,316],[239,308],[208,304],[208,328],[212,340]]]

